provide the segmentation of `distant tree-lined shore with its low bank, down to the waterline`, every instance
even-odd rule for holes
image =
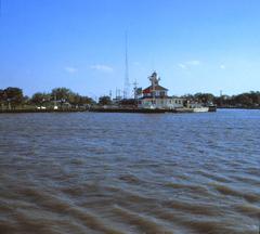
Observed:
[[[141,89],[141,88],[140,88]],[[141,89],[142,90],[142,89]],[[24,95],[23,89],[17,87],[8,87],[0,89],[0,114],[1,113],[75,113],[75,112],[118,112],[118,113],[139,113],[146,110],[135,110],[135,107],[144,98],[143,91],[133,98],[123,98],[116,95],[102,95],[93,100],[87,95],[80,95],[70,89],[60,87],[52,89],[51,92],[36,92],[31,96]],[[195,94],[184,94],[181,96],[168,96],[170,99],[180,99],[182,107],[195,107],[198,105],[218,106],[222,108],[234,109],[260,109],[260,91],[244,92],[236,95],[216,96],[211,93],[197,92]],[[180,102],[179,100],[179,102]],[[162,102],[162,101],[161,101]],[[167,101],[168,102],[168,101]],[[139,104],[138,104],[139,103]],[[150,102],[148,102],[150,103]],[[177,101],[172,102],[177,103]],[[180,104],[180,103],[179,103]],[[191,104],[191,105],[188,105]],[[103,109],[102,106],[107,106]],[[117,106],[117,109],[114,109]],[[128,107],[131,106],[132,110]],[[156,106],[160,108],[161,106]],[[181,106],[180,106],[181,107]],[[177,112],[179,112],[178,109]],[[148,110],[150,112],[150,110]],[[153,112],[153,110],[152,110]],[[159,110],[158,110],[159,112]],[[164,112],[164,110],[162,110]],[[174,112],[174,110],[165,110]],[[186,110],[188,113],[190,110]],[[155,112],[153,112],[155,113]]]

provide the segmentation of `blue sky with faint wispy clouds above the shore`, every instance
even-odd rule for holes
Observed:
[[[92,98],[148,84],[170,94],[260,90],[259,0],[0,0],[0,89]]]

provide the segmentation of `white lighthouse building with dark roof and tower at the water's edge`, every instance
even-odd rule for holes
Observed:
[[[142,98],[138,102],[139,108],[174,109],[183,107],[183,99],[168,96],[168,89],[159,86],[160,78],[156,72],[148,79],[151,86],[143,90]]]

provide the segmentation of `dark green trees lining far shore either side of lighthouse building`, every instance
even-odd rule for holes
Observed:
[[[181,98],[204,104],[216,104],[219,107],[260,108],[260,92],[245,92],[237,95],[214,96],[211,93],[186,94]],[[130,102],[131,101],[131,102]],[[120,104],[134,104],[134,100],[122,100]],[[0,89],[0,108],[15,109],[17,107],[82,107],[90,105],[110,105],[108,95],[100,96],[96,103],[93,99],[73,92],[67,88],[55,88],[51,92],[37,92],[31,98],[24,95],[23,90],[15,87]]]

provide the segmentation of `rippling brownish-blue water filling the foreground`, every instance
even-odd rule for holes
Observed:
[[[0,115],[0,233],[252,233],[260,110]]]

